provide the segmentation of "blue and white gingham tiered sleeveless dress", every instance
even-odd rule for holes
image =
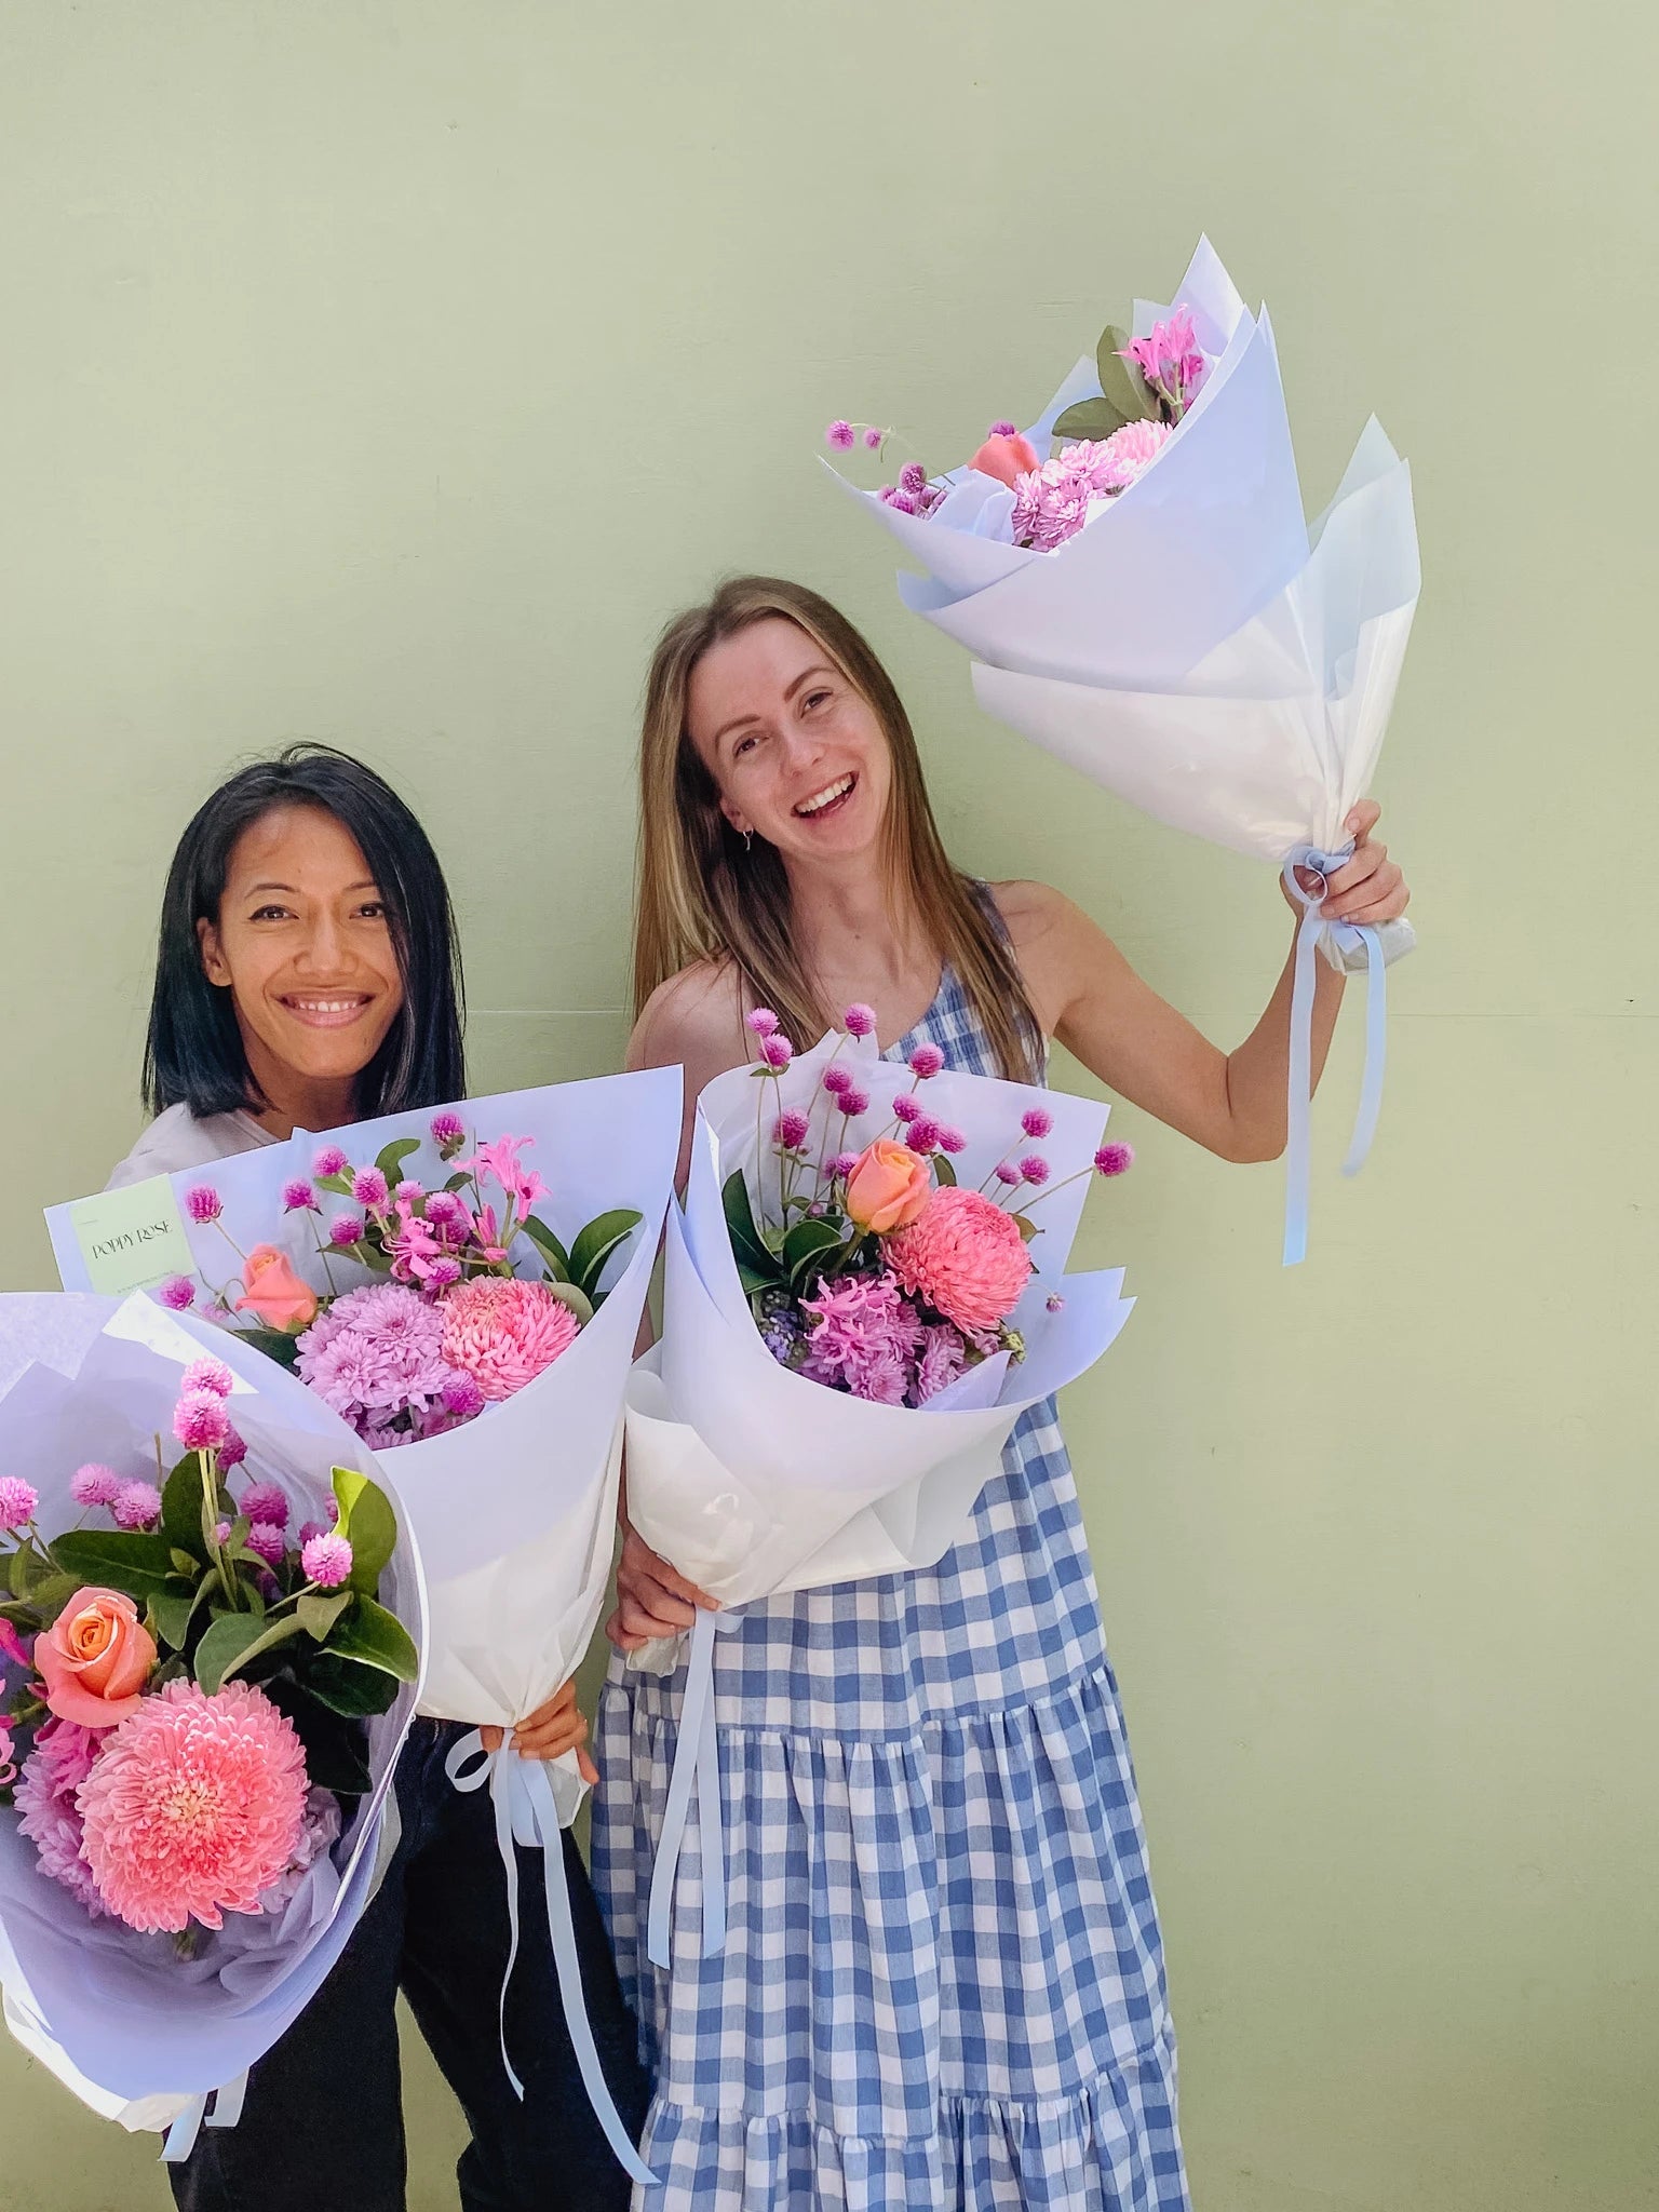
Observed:
[[[947,971],[891,1048],[995,1073]],[[1053,1402],[936,1568],[714,1639],[728,1936],[646,1896],[684,1666],[613,1655],[593,1882],[655,2097],[637,2212],[1188,2212],[1175,2033],[1117,1683]]]

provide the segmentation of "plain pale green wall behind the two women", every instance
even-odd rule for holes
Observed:
[[[422,807],[480,1091],[613,1066],[644,657],[732,566],[869,628],[964,863],[1234,1042],[1272,880],[978,719],[818,431],[949,462],[1208,228],[1310,507],[1371,407],[1413,458],[1374,1164],[1352,1018],[1296,1274],[1276,1170],[1124,1110],[1141,1310],[1066,1405],[1201,2212],[1659,2201],[1655,62],[1608,0],[0,7],[7,1287],[137,1133],[166,858],[257,748]],[[166,2203],[0,2081],[0,2205]],[[409,2106],[451,2205],[418,2051]]]

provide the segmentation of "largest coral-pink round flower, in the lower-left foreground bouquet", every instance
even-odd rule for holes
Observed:
[[[170,1681],[106,1739],[75,1792],[108,1911],[170,1933],[259,1911],[305,1827],[305,1754],[263,1690]]]

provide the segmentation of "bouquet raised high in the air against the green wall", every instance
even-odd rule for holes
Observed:
[[[854,436],[830,425],[834,447]],[[1245,312],[1201,241],[1175,305],[1137,303],[1135,336],[1106,330],[1029,431],[998,422],[967,469],[911,462],[854,495],[925,562],[900,597],[973,653],[987,712],[1177,830],[1272,860],[1303,900],[1285,1234],[1301,1259],[1314,953],[1369,978],[1354,1172],[1380,1104],[1383,967],[1416,942],[1405,920],[1323,922],[1296,878],[1347,858],[1383,748],[1420,588],[1407,465],[1369,422],[1336,500],[1303,522],[1267,312]]]

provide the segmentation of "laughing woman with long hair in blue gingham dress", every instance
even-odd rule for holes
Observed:
[[[1400,869],[1356,807],[1323,911]],[[699,1088],[770,1006],[856,1000],[889,1057],[1040,1082],[1060,1037],[1223,1159],[1285,1144],[1290,962],[1221,1053],[1037,883],[947,858],[905,708],[816,593],[739,577],[664,633],[641,741],[633,1066]],[[1323,971],[1314,1066],[1343,978]],[[657,2090],[650,2212],[1177,2212],[1175,2035],[1135,1774],[1053,1405],[938,1566],[748,1606],[714,1644],[728,1933],[646,1960],[684,1670],[626,1652],[701,1599],[628,1528],[593,1871]]]

